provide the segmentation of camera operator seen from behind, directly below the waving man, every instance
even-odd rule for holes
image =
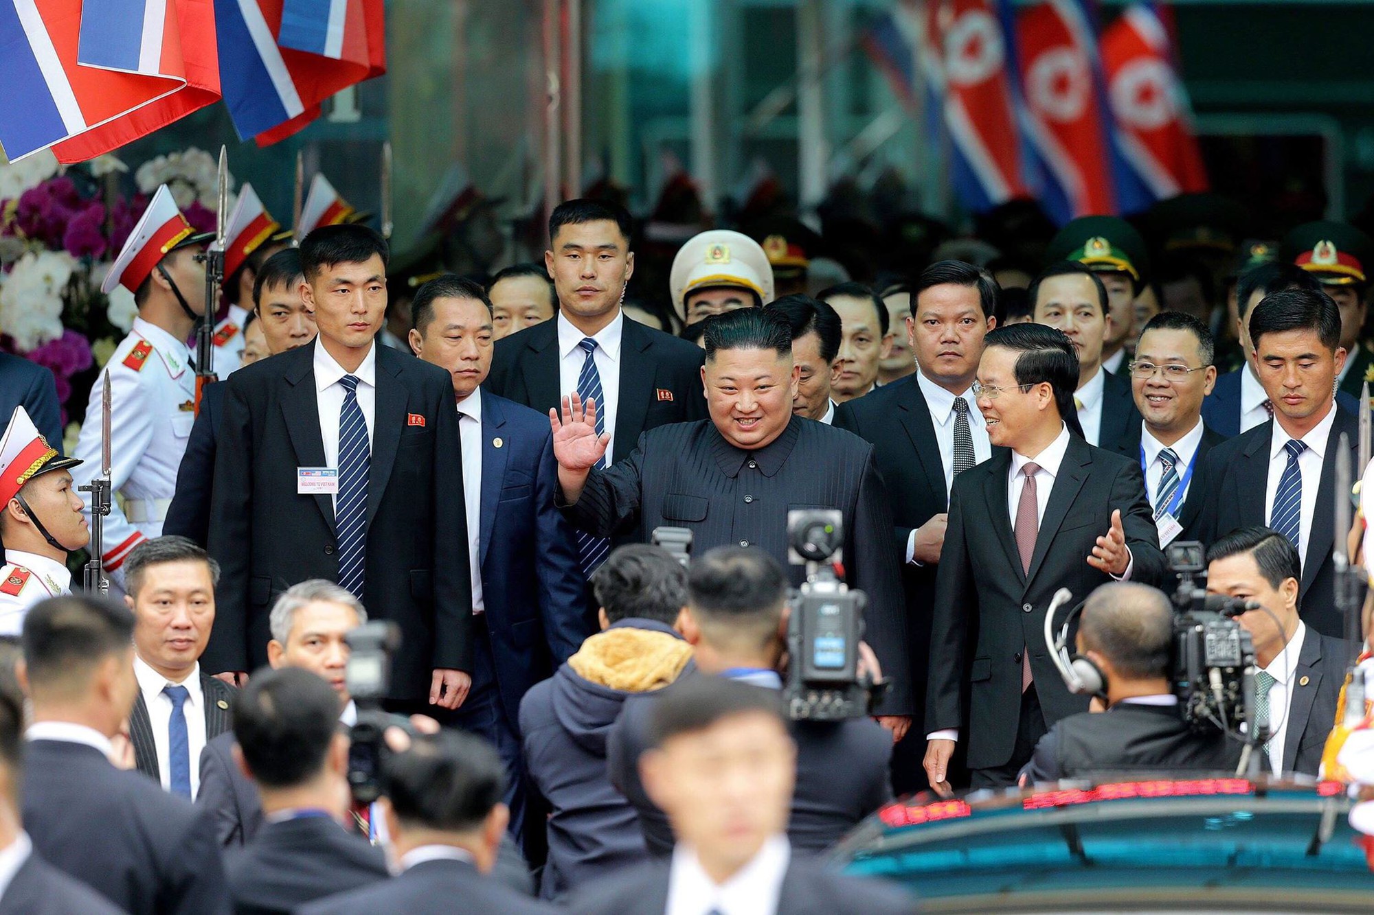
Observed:
[[[752,547],[709,551],[687,573],[687,609],[680,620],[694,648],[695,673],[780,691],[787,613],[787,580],[771,555]],[[684,672],[680,680],[691,679]],[[639,778],[655,702],[657,697],[642,697],[625,703],[610,735],[607,762],[611,783],[639,811],[649,850],[664,856],[672,852],[672,828]],[[892,800],[892,741],[870,719],[793,721],[790,730],[797,742],[797,783],[787,838],[797,849],[818,852]]]

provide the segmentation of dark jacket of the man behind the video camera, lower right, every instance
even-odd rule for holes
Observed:
[[[1345,683],[1345,670],[1359,646],[1334,639],[1311,628],[1303,639],[1297,668],[1289,677],[1287,724],[1283,734],[1283,771],[1316,776],[1322,767],[1326,738],[1336,727],[1336,701]],[[1270,719],[1279,714],[1271,706]]]

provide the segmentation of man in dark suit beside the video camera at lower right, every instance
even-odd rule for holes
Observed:
[[[1206,551],[1209,594],[1256,600],[1237,620],[1254,644],[1257,703],[1270,724],[1270,769],[1316,776],[1336,723],[1336,699],[1356,646],[1298,618],[1301,562],[1293,541],[1270,528],[1241,528]],[[1265,695],[1267,694],[1267,695]]]

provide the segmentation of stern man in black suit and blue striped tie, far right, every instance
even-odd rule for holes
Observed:
[[[1283,290],[1252,309],[1249,328],[1274,419],[1208,455],[1202,540],[1257,525],[1281,532],[1303,561],[1303,620],[1340,636],[1331,519],[1348,496],[1336,492],[1336,452],[1344,433],[1353,468],[1359,444],[1359,420],[1331,398],[1345,360],[1340,309],[1326,293]]]

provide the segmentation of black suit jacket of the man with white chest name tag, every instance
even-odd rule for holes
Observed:
[[[308,578],[338,580],[334,501],[297,495],[295,468],[323,467],[315,348],[246,365],[228,381],[214,466],[210,554],[221,566],[209,673],[267,664],[268,613]],[[401,629],[390,698],[425,701],[434,668],[471,670],[473,595],[462,447],[448,372],[376,350],[363,603]]]

